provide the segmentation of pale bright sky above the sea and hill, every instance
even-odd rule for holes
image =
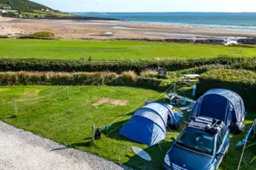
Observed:
[[[60,11],[256,12],[256,0],[31,0]]]

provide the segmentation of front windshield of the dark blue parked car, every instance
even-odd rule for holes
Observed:
[[[207,134],[205,131],[187,128],[179,137],[176,144],[199,153],[212,155],[214,136]]]

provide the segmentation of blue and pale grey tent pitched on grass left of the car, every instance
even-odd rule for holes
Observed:
[[[165,103],[148,103],[138,108],[133,117],[123,126],[119,134],[146,145],[155,145],[166,137],[168,117],[176,122],[175,114]]]

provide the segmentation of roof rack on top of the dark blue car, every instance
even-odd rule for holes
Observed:
[[[220,120],[211,117],[196,117],[189,127],[216,134],[221,131],[222,125]]]

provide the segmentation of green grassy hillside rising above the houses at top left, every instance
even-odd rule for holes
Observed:
[[[13,9],[19,9],[21,11],[41,10],[42,8],[48,8],[49,10],[52,10],[50,7],[46,7],[39,3],[31,2],[28,0],[0,0],[0,4],[11,5]]]

